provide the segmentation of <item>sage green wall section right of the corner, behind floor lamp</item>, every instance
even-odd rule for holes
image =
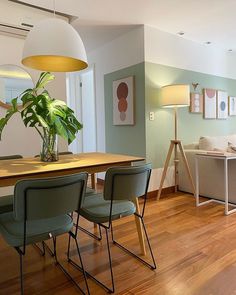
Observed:
[[[146,153],[154,168],[163,167],[170,140],[174,138],[173,109],[159,106],[160,87],[170,84],[199,83],[203,88],[226,90],[236,96],[236,80],[178,69],[174,67],[145,63],[145,117]],[[191,88],[193,91],[193,88]],[[149,121],[149,112],[155,112],[155,120]],[[203,119],[202,114],[189,113],[188,108],[178,110],[178,138],[183,144],[198,142],[200,136],[236,133],[236,117],[226,120]]]

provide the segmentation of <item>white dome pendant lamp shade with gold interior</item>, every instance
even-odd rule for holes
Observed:
[[[22,64],[49,72],[73,72],[87,68],[84,44],[77,31],[57,18],[40,21],[29,32]]]

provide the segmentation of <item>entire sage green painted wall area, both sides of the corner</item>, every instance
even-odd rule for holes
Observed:
[[[114,126],[112,114],[112,82],[134,76],[135,125]],[[226,90],[236,96],[236,80],[159,65],[139,63],[104,76],[106,151],[111,153],[145,156],[153,168],[164,166],[170,140],[174,138],[173,109],[159,105],[160,88],[170,84],[199,83],[203,88]],[[193,88],[191,88],[193,91]],[[155,120],[149,120],[149,112]],[[226,120],[203,119],[202,114],[189,113],[188,108],[178,110],[178,138],[183,144],[198,142],[204,135],[236,133],[236,116]]]

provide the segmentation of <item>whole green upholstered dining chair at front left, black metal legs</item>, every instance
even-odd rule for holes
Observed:
[[[83,263],[77,241],[77,229],[73,231],[72,212],[80,211],[87,185],[87,173],[62,177],[21,180],[14,190],[13,211],[0,215],[0,233],[20,256],[21,294],[23,288],[23,256],[27,245],[53,239],[57,265],[69,273],[57,260],[56,237],[69,233],[75,240],[81,267]],[[77,217],[77,224],[78,224]],[[89,293],[85,272],[83,271]],[[80,291],[81,287],[70,276]]]

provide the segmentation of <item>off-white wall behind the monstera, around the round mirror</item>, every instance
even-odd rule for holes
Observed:
[[[21,55],[24,40],[0,35],[0,65],[15,64],[21,66]],[[36,81],[40,72],[28,70]],[[50,93],[58,99],[66,100],[65,74],[57,74],[56,79],[48,87]],[[0,118],[6,110],[0,107]],[[60,150],[67,150],[67,144],[60,141]],[[0,141],[0,155],[22,154],[33,156],[40,151],[40,139],[34,128],[25,128],[19,116],[9,121]]]

